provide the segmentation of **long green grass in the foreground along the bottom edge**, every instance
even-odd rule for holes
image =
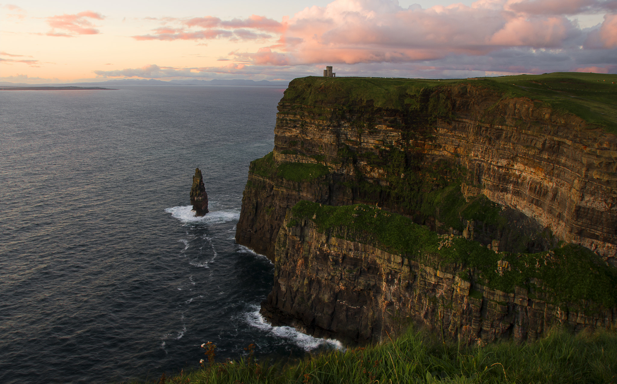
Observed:
[[[205,363],[158,383],[617,383],[617,335],[553,328],[535,342],[463,346],[408,330],[386,343],[288,364],[255,361],[251,355],[233,364]]]

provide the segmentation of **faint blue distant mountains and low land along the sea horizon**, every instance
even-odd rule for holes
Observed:
[[[43,84],[36,84],[43,85]],[[154,80],[151,78],[150,80],[107,80],[107,81],[99,81],[96,83],[66,83],[66,84],[44,84],[44,85],[289,85],[289,81],[268,81],[268,80],[242,80],[242,79],[234,79],[234,80],[171,80],[171,81],[163,81],[163,80]],[[25,84],[25,83],[9,83],[7,81],[0,81],[0,86],[33,86],[33,84]]]

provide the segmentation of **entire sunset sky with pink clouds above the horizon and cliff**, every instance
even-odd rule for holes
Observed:
[[[617,0],[12,0],[0,81],[617,72]]]

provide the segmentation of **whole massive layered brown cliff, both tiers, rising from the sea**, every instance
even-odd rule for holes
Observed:
[[[251,163],[236,232],[238,243],[275,261],[275,286],[262,311],[275,323],[357,341],[379,339],[400,319],[430,327],[439,323],[452,335],[469,332],[470,340],[534,337],[530,335],[558,320],[580,327],[574,314],[586,326],[614,327],[612,301],[599,303],[585,294],[558,298],[555,286],[547,286],[547,296],[537,298],[550,304],[537,309],[541,305],[529,299],[529,284],[538,277],[524,272],[535,270],[535,265],[520,267],[518,274],[526,278],[515,285],[491,288],[495,276],[502,278],[503,269],[513,265],[511,257],[563,253],[568,262],[592,262],[595,257],[609,271],[602,272],[608,273],[605,296],[615,296],[614,268],[608,265],[617,265],[617,92],[615,85],[584,75],[589,74],[292,81],[279,103],[274,151]],[[431,250],[417,254],[397,249],[386,255],[382,253],[387,249],[376,251],[379,246],[371,243],[374,234],[336,235],[346,233],[350,223],[334,235],[315,232],[308,219],[281,230],[289,220],[297,220],[290,219],[290,212],[300,201],[378,206],[380,212],[400,215],[434,236],[451,235],[489,254],[508,256],[492,265],[465,258],[439,261]],[[416,235],[407,236],[418,241]],[[329,243],[333,238],[350,243]],[[571,245],[558,247],[563,244]],[[309,256],[311,252],[317,256]],[[334,265],[328,264],[331,259]],[[299,263],[307,268],[304,274]],[[310,270],[307,263],[321,266]],[[473,270],[486,265],[492,275],[485,271],[479,280]],[[341,271],[336,267],[358,275],[337,280],[333,276]],[[568,273],[559,267],[552,270]],[[469,286],[460,288],[466,280],[458,276],[465,271],[471,271],[466,272]],[[347,290],[360,293],[346,298],[337,282],[347,282]],[[404,304],[393,304],[395,300],[384,299],[378,291],[389,291]],[[469,292],[479,294],[474,298]],[[343,307],[331,304],[339,296],[368,312],[341,315]],[[489,299],[485,303],[480,296]],[[528,298],[524,311],[517,307],[523,304],[515,304],[523,303],[523,297]],[[491,304],[490,298],[501,298],[493,299],[500,304]],[[586,300],[593,301],[593,315],[581,317],[578,309],[564,309],[584,308]],[[382,311],[385,302],[392,304]],[[438,303],[452,307],[450,312]],[[326,315],[326,307],[336,315]]]

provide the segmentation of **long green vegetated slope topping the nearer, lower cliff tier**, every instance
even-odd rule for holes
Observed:
[[[311,220],[320,233],[371,244],[444,271],[469,270],[471,280],[491,289],[513,293],[519,286],[531,297],[585,313],[617,305],[615,269],[576,244],[532,254],[495,253],[477,241],[439,235],[407,217],[365,204],[325,206],[300,201],[291,212],[295,223]],[[499,273],[499,261],[507,261],[511,268]]]

